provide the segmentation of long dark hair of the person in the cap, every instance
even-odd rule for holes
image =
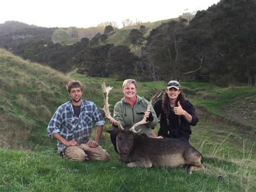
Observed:
[[[182,93],[181,90],[180,90],[180,94],[179,94],[178,98],[176,99],[175,106],[178,106],[178,101],[180,101],[180,104],[181,104],[182,108],[184,108],[186,98],[185,98],[185,95]],[[170,114],[170,112],[172,112],[172,109],[170,108],[170,99],[169,99],[168,94],[166,93],[166,91],[162,96],[162,109],[163,109],[165,114]]]

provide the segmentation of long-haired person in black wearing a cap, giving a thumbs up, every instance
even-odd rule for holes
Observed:
[[[169,81],[162,99],[156,101],[154,110],[160,117],[157,138],[177,138],[188,142],[190,125],[196,125],[198,118],[194,106],[185,99],[178,81]]]

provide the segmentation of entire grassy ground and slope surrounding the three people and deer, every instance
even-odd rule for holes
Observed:
[[[191,144],[204,156],[203,172],[189,175],[183,168],[127,168],[118,162],[107,133],[100,145],[109,152],[110,162],[70,162],[57,155],[56,141],[46,134],[53,112],[69,99],[65,84],[71,78],[80,80],[85,87],[83,97],[101,108],[101,80],[114,87],[111,104],[121,99],[122,82],[89,78],[75,71],[65,76],[2,49],[0,57],[0,191],[256,190],[255,126],[227,117],[223,108],[230,110],[242,100],[253,103],[256,88],[181,82],[199,114]],[[148,98],[155,88],[165,89],[165,82],[138,82],[140,96]],[[255,105],[251,105],[249,119],[254,118]],[[108,122],[104,129],[111,129]]]

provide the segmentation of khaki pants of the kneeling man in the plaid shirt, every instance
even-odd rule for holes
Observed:
[[[86,143],[81,143],[77,146],[68,146],[64,150],[64,157],[70,159],[71,161],[84,161],[84,160],[100,160],[109,161],[110,156],[108,152],[103,150],[101,146],[95,148],[90,147],[90,140]]]

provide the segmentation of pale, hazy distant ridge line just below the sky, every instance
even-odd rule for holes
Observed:
[[[156,22],[146,22],[146,23],[141,23],[138,25],[131,25],[131,26],[126,26],[124,28],[118,29],[114,28],[115,31],[124,31],[124,32],[119,32],[120,34],[126,34],[128,31],[131,31],[132,29],[140,29],[140,26],[145,26],[147,28],[147,33],[145,36],[148,36],[150,31],[162,23],[169,22],[170,20],[177,19],[177,18],[170,18],[170,19],[165,19],[165,20],[159,20]],[[89,27],[89,28],[77,28],[77,27],[69,27],[69,28],[46,28],[46,27],[39,27],[35,25],[28,25],[22,22],[17,22],[17,21],[7,21],[4,24],[0,24],[0,29],[1,29],[1,34],[10,34],[12,36],[12,39],[16,39],[19,36],[21,37],[26,37],[26,34],[28,33],[29,35],[32,35],[33,37],[35,34],[33,31],[28,30],[28,29],[33,29],[37,28],[38,32],[35,32],[37,34],[40,34],[40,31],[46,31],[46,33],[51,34],[51,40],[56,43],[59,42],[61,44],[67,44],[71,45],[74,44],[77,41],[80,41],[81,38],[86,37],[86,38],[93,38],[97,33],[104,33],[104,26],[98,26],[98,27]],[[65,35],[63,35],[65,34]],[[116,37],[115,37],[116,36]],[[114,35],[113,39],[110,39],[109,41],[112,42],[115,45],[126,45],[127,42],[125,42],[126,35],[124,37],[118,37],[119,34]],[[6,37],[5,37],[6,38]],[[37,36],[37,38],[40,38]],[[45,37],[41,37],[40,39],[46,39]],[[113,42],[113,40],[117,40],[117,42]],[[6,43],[4,43],[6,44]]]

